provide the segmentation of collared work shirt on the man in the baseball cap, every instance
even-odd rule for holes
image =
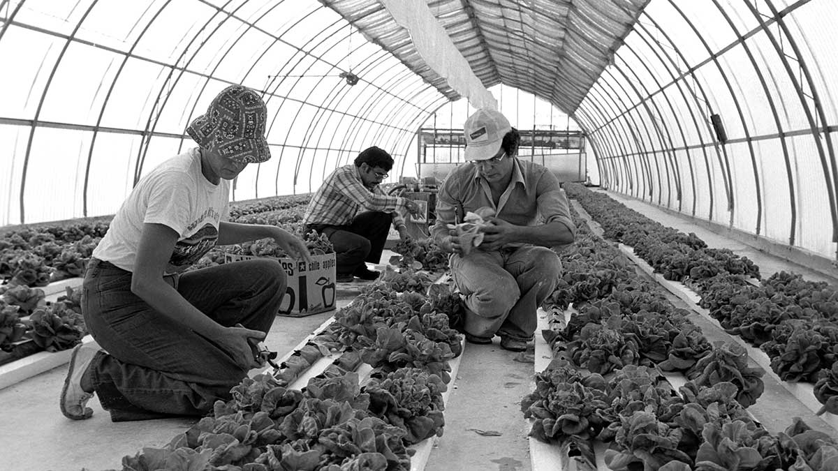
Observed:
[[[512,179],[497,205],[492,200],[489,182],[480,176],[477,165],[464,163],[452,170],[437,194],[437,223],[431,232],[434,241],[441,243],[448,235],[447,224],[459,224],[468,211],[484,206],[492,208],[496,217],[513,225],[559,221],[576,234],[567,196],[556,175],[538,163],[515,158]]]

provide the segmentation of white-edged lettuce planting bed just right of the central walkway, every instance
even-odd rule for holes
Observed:
[[[573,205],[580,209],[577,202],[574,201]],[[759,359],[755,355],[763,352],[749,345],[750,349],[747,349],[741,339],[727,334],[718,323],[714,325],[711,321],[715,319],[702,315],[701,308],[696,306],[694,299],[690,299],[689,293],[683,289],[679,292],[679,298],[669,293],[660,297],[668,298],[669,308],[663,308],[654,301],[645,302],[640,311],[629,308],[636,302],[637,293],[646,289],[662,292],[659,282],[670,280],[654,274],[648,264],[636,257],[632,260],[634,263],[628,262],[628,256],[633,255],[628,249],[621,252],[616,244],[597,242],[598,235],[592,234],[602,234],[603,231],[583,210],[578,212],[582,214],[583,220],[579,222],[577,244],[561,254],[566,269],[566,283],[554,292],[553,301],[556,304],[549,309],[551,312],[540,313],[540,329],[551,333],[545,336],[546,339],[559,339],[552,342],[536,339],[535,392],[526,397],[522,405],[533,426],[533,437],[530,439],[532,468],[552,469],[559,463],[562,469],[633,469],[635,466],[665,470],[832,469],[832,463],[838,461],[838,458],[834,458],[838,456],[835,449],[838,433],[828,412],[824,420],[823,417],[815,416],[818,408],[812,406],[811,400],[807,406],[807,397],[814,396],[793,394],[794,391],[805,389],[771,374],[770,365],[765,361],[767,356]],[[591,221],[592,231],[588,231],[588,221]],[[588,232],[591,235],[586,235]],[[747,261],[740,264],[735,256],[723,255],[729,261],[729,266],[747,267]],[[610,261],[613,261],[613,265]],[[702,270],[709,271],[716,267],[712,261],[702,263]],[[631,271],[636,272],[625,272],[620,268],[621,265],[630,266]],[[617,271],[616,279],[609,272],[612,269]],[[692,274],[697,273],[694,271]],[[643,283],[633,287],[626,284],[629,280],[642,278],[648,280],[649,287],[642,287]],[[684,287],[681,283],[677,284]],[[653,289],[651,285],[657,288]],[[627,287],[629,291],[626,291]],[[675,283],[670,287],[675,288]],[[633,296],[635,301],[629,303]],[[611,304],[603,301],[608,298],[612,299]],[[614,300],[622,303],[623,307],[618,308]],[[687,321],[681,324],[679,320],[676,325],[682,325],[682,332],[694,333],[690,336],[693,342],[690,350],[693,355],[697,354],[696,365],[704,365],[709,369],[702,367],[703,373],[699,374],[693,367],[683,368],[685,364],[681,361],[687,357],[672,356],[675,345],[680,345],[681,353],[686,346],[683,341],[679,343],[671,337],[675,332],[669,334],[672,341],[669,358],[660,363],[660,359],[666,356],[662,355],[663,350],[658,347],[667,335],[664,335],[664,340],[649,337],[654,331],[644,329],[660,320],[654,321],[655,316],[649,316],[649,312],[641,315],[647,310],[650,313],[666,313],[670,320],[680,318]],[[622,320],[609,318],[618,312]],[[555,319],[553,323],[548,322],[551,318]],[[638,328],[634,323],[626,323],[627,319],[642,323]],[[598,327],[595,332],[589,330],[586,334],[583,326],[592,323]],[[618,333],[617,337],[610,340],[611,344],[600,343],[602,346],[593,347],[597,342],[603,342],[602,335],[609,329]],[[650,343],[650,339],[657,340]],[[712,344],[711,349],[701,353],[701,349],[696,349],[701,345],[695,343],[697,339],[704,339],[701,342],[706,345]],[[636,345],[639,357],[634,353],[634,347],[626,345]],[[606,355],[616,356],[597,357],[597,352],[603,352],[603,348],[605,351],[611,349],[612,353]],[[655,356],[658,358],[655,359]],[[755,356],[757,358],[752,358]],[[727,361],[735,358],[738,360],[727,364]],[[707,363],[711,359],[712,364],[716,365],[713,368],[726,366],[711,371],[711,364]],[[597,361],[591,363],[593,360]],[[608,366],[608,362],[616,365]],[[653,370],[644,371],[643,367],[638,370],[636,366],[627,366],[638,364],[650,365]],[[548,365],[550,373],[544,371]],[[670,371],[661,371],[659,368]],[[591,370],[603,375],[592,375]],[[766,374],[766,371],[769,373]],[[613,383],[615,377],[623,379]],[[603,385],[603,379],[607,385]],[[652,382],[649,383],[649,380]],[[719,386],[723,381],[732,383],[728,383],[730,386]],[[696,383],[697,389],[691,386],[692,383]],[[622,389],[619,391],[622,392],[617,396],[605,393],[612,391],[612,387],[620,387]],[[746,389],[743,390],[743,387]],[[636,396],[637,391],[643,391],[643,395],[637,396],[639,402],[632,406],[633,402],[628,398]],[[730,401],[730,397],[734,396],[743,401],[741,406],[737,401]],[[619,398],[619,401],[612,403],[609,397],[615,398],[614,401]],[[605,401],[600,406],[591,406],[603,399]],[[608,404],[610,406],[606,406]],[[612,415],[615,413],[615,404],[623,407],[622,411],[616,413],[616,417]],[[747,406],[747,409],[742,406]],[[727,418],[725,414],[716,416],[717,412],[706,415],[718,407],[727,411]],[[704,412],[698,413],[701,410]],[[696,422],[698,417],[704,419]],[[793,421],[793,417],[801,417],[803,422],[797,422],[797,419]],[[613,422],[615,419],[617,422]],[[702,423],[713,425],[704,427]],[[611,432],[608,432],[609,427]],[[804,432],[808,427],[813,430]],[[726,440],[731,442],[721,446],[721,442],[716,441],[721,437],[727,437]],[[549,444],[542,441],[545,438]]]

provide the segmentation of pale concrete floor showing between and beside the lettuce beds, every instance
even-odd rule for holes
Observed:
[[[661,224],[695,232],[710,246],[727,247],[751,258],[766,276],[786,270],[838,284],[818,272],[768,256],[649,204],[611,195]],[[388,259],[388,254],[382,257],[382,260]],[[338,306],[349,303],[354,296],[355,292],[339,291]],[[266,345],[282,355],[333,314],[277,318]],[[527,442],[529,427],[520,412],[520,400],[530,392],[532,354],[512,354],[500,349],[497,342],[498,339],[491,345],[466,344],[448,399],[444,434],[435,440],[427,470],[531,469]],[[189,419],[113,423],[96,398],[90,403],[95,411],[91,419],[67,420],[58,408],[65,371],[66,366],[62,366],[0,390],[0,404],[5,410],[0,421],[0,439],[3,440],[0,469],[119,469],[123,456],[133,455],[142,447],[162,446],[194,423]]]

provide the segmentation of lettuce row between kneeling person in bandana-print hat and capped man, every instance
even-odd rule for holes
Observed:
[[[122,469],[406,471],[410,446],[442,435],[449,362],[462,352],[448,313],[459,309],[427,273],[389,270],[277,369],[242,380],[209,417]],[[334,360],[291,387],[324,358]],[[362,363],[368,380],[354,372]]]

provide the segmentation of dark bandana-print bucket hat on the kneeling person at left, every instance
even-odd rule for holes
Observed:
[[[221,155],[246,163],[271,158],[265,138],[267,107],[245,86],[230,85],[215,96],[207,112],[189,123],[186,133],[202,148],[215,141]]]

